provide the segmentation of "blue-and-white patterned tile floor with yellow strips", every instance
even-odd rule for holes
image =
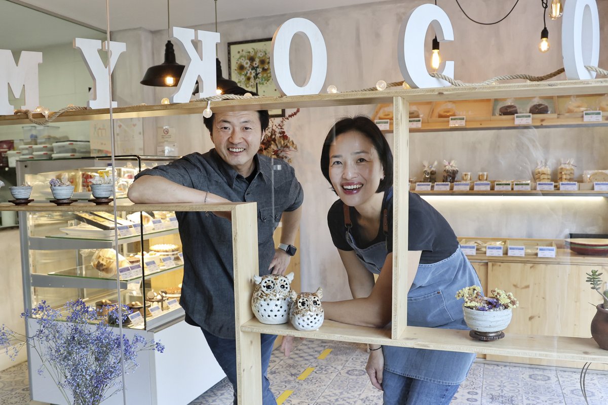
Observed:
[[[330,350],[331,349],[331,350]],[[325,355],[325,356],[323,356]],[[277,349],[268,372],[279,405],[373,405],[382,393],[365,374],[365,345],[303,339],[288,358]],[[309,372],[306,375],[305,372]],[[608,403],[608,374],[587,374],[589,405]],[[0,405],[47,405],[29,401],[27,364],[0,372]],[[226,379],[190,405],[231,405]],[[579,372],[550,367],[477,362],[452,400],[452,405],[586,405]]]

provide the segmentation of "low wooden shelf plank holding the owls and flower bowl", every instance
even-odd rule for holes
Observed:
[[[514,313],[514,316],[517,316]],[[241,325],[241,332],[269,333],[358,343],[385,344],[419,349],[472,352],[576,361],[608,361],[608,350],[599,349],[592,338],[516,335],[507,333],[494,342],[480,342],[469,337],[468,330],[407,327],[399,339],[390,339],[389,329],[377,329],[325,321],[315,332],[300,332],[291,324],[266,325],[250,319]]]

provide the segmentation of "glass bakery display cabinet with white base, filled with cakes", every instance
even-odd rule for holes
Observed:
[[[34,200],[23,206],[29,211],[19,213],[24,306],[46,301],[61,308],[82,299],[117,327],[111,310],[119,302],[124,305],[128,318],[122,322],[123,333],[160,340],[167,348],[166,354],[143,352],[138,357],[140,369],[126,376],[132,403],[189,403],[224,376],[201,331],[183,320],[179,297],[184,257],[174,210],[125,211],[131,206],[126,189],[140,168],[169,160],[115,158],[116,217],[114,206],[87,201],[88,180],[112,170],[109,158],[18,162],[19,182],[33,186]],[[52,199],[46,192],[48,180],[53,178],[74,184],[78,201],[66,206],[47,203]],[[38,211],[36,205],[46,209]],[[28,319],[30,333],[36,327],[35,320]],[[33,399],[62,404],[52,379],[35,372],[41,366],[37,356],[28,354]],[[206,364],[204,370],[200,364]],[[190,372],[176,375],[176,369]],[[122,404],[122,396],[108,403]]]

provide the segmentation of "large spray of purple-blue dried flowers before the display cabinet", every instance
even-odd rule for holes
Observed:
[[[130,310],[124,305],[123,308],[123,319],[127,319]],[[62,316],[62,310],[69,315]],[[116,306],[110,312],[118,316]],[[147,341],[141,335],[121,338],[111,325],[102,321],[95,308],[81,299],[67,302],[60,309],[42,301],[21,316],[35,319],[37,326],[32,328],[32,335],[21,335],[2,325],[0,346],[8,347],[6,353],[13,360],[22,347],[29,346],[30,353],[40,357],[38,373],[51,378],[70,405],[99,405],[121,392],[121,357],[128,374],[139,366],[139,352],[162,353],[165,349],[161,343]]]

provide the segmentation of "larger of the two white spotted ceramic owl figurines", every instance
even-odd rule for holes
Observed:
[[[289,284],[294,279],[294,273],[268,274],[254,276],[254,296],[251,299],[251,309],[255,317],[263,324],[285,324],[289,319]]]

